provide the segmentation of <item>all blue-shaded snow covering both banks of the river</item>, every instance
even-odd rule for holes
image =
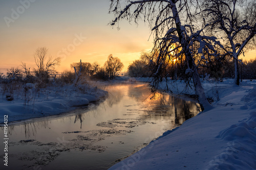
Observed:
[[[217,83],[207,77],[202,85],[207,98],[214,101],[211,110],[200,112],[176,129],[160,130],[162,136],[110,169],[256,169],[256,81],[243,80],[241,86],[234,87],[232,79]],[[167,85],[164,81],[158,88],[166,91],[166,86],[168,92],[195,95],[183,80]],[[68,112],[107,94],[89,85],[36,89],[34,84],[26,84],[20,89],[24,91],[16,91],[13,100],[7,101],[5,87],[0,88],[1,123],[4,115],[12,122]]]

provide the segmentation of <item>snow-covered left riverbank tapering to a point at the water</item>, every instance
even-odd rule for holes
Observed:
[[[4,115],[8,115],[8,122],[13,122],[68,112],[108,94],[89,85],[35,88],[31,83],[15,88],[12,93],[3,88],[0,91],[0,123],[4,123]]]

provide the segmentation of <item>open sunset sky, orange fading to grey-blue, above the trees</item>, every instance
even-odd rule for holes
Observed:
[[[115,17],[109,6],[109,0],[0,0],[0,71],[22,62],[35,67],[38,47],[61,58],[59,72],[80,59],[103,66],[110,54],[120,58],[126,71],[153,47],[151,31],[147,23],[126,20],[120,21],[120,30],[112,28],[108,23]],[[243,59],[255,57],[252,51]]]

